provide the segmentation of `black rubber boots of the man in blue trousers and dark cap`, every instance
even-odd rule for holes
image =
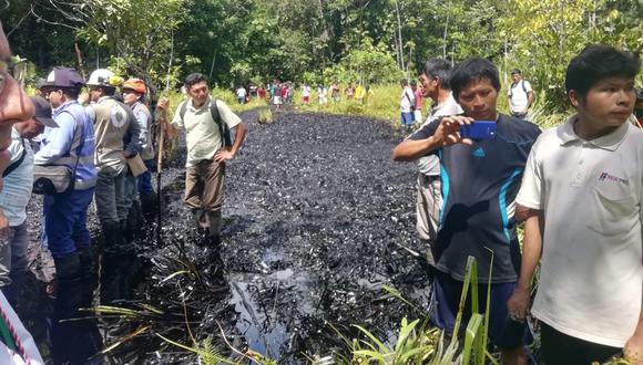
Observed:
[[[58,281],[50,327],[53,364],[92,363],[90,358],[102,348],[102,338],[95,320],[85,319],[86,312],[79,313],[83,290],[80,254],[73,252],[53,261]]]

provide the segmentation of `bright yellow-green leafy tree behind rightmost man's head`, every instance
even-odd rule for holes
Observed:
[[[564,72],[590,43],[639,52],[643,44],[639,1],[516,0],[499,20],[508,44],[506,63],[524,70],[551,105],[567,105]]]

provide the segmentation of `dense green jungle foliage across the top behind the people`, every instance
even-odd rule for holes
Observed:
[[[387,83],[428,58],[489,58],[519,67],[549,108],[588,43],[643,46],[642,0],[4,0],[16,54],[53,65],[110,66],[153,90],[190,72],[221,87],[282,81]]]

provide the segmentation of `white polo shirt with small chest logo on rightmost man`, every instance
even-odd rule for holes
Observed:
[[[624,123],[584,140],[576,121],[539,137],[516,199],[544,212],[532,313],[567,335],[622,347],[641,311],[643,131]]]

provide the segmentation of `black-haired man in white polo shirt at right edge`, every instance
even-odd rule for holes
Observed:
[[[529,156],[516,199],[527,218],[513,319],[542,323],[545,364],[604,363],[624,350],[643,361],[643,131],[634,108],[637,56],[590,45],[569,64],[565,87],[576,109],[544,132]]]

